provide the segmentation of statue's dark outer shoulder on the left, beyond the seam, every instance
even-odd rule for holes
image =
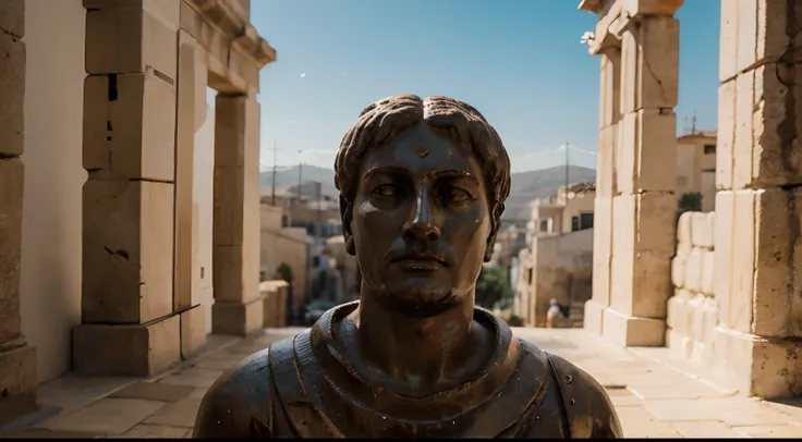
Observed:
[[[226,371],[200,402],[193,438],[270,438],[272,389],[269,349]]]

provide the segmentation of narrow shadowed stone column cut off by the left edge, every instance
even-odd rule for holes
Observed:
[[[21,331],[25,1],[0,11],[0,426],[36,408],[36,348]]]

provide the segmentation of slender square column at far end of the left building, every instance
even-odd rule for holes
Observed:
[[[259,103],[255,91],[217,96],[212,278],[216,334],[263,326],[259,293]]]

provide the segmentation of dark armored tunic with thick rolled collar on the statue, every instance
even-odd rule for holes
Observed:
[[[496,348],[471,381],[405,397],[368,384],[335,333],[359,303],[338,306],[307,331],[223,375],[204,398],[194,437],[620,438],[604,389],[572,364],[515,339],[489,311],[474,319]]]

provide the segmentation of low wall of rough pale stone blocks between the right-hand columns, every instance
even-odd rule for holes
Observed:
[[[705,363],[718,324],[714,296],[714,212],[685,212],[677,223],[671,260],[673,296],[668,299],[666,346],[685,359]]]

